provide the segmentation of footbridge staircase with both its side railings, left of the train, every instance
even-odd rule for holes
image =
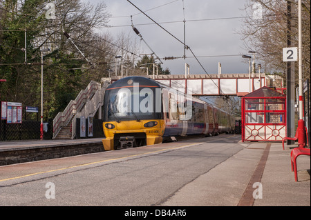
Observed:
[[[53,120],[53,139],[74,139],[76,119],[82,116],[94,117],[101,110],[104,94],[110,82],[102,79],[102,83],[91,81],[85,90],[79,92],[75,100],[71,100],[64,112],[59,112]]]

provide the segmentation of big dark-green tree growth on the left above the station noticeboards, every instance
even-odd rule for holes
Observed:
[[[54,11],[46,7],[48,3],[55,3]],[[55,15],[53,19],[47,16],[49,12]],[[94,51],[90,39],[93,28],[104,26],[108,17],[104,3],[93,7],[75,0],[1,0],[0,78],[7,79],[0,85],[1,99],[39,106],[40,50],[50,48],[51,52],[44,54],[44,115],[55,117],[91,79],[99,78],[98,71],[85,61],[64,31],[96,63],[102,55]],[[102,45],[100,48],[106,50]]]

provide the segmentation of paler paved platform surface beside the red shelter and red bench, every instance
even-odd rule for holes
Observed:
[[[311,206],[310,157],[297,158],[297,182],[291,170],[290,152],[297,145],[285,145],[283,150],[277,142],[243,144],[248,146],[178,190],[162,206]],[[254,172],[249,172],[251,167]],[[252,174],[250,179],[245,178],[247,173]]]

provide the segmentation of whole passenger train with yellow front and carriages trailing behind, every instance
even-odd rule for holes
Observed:
[[[151,146],[170,137],[234,131],[234,115],[147,77],[111,83],[104,95],[105,150]]]

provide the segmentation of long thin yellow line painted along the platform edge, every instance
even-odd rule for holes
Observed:
[[[202,142],[202,143],[205,143],[205,142]],[[130,157],[137,157],[137,156],[141,156],[141,155],[144,155],[144,154],[152,154],[152,153],[161,152],[161,151],[165,151],[165,150],[176,150],[178,148],[198,146],[198,145],[200,145],[202,143],[192,143],[192,144],[188,144],[188,145],[180,146],[180,147],[176,147],[176,148],[165,148],[165,149],[156,150],[156,151],[153,151],[153,152],[145,152],[145,153],[142,153],[142,154],[135,154],[135,155],[131,155],[131,156],[119,157],[119,158],[114,158],[114,159],[107,159],[107,160],[104,160],[104,161],[96,161],[96,162],[92,162],[92,163],[84,163],[84,164],[80,164],[80,165],[76,165],[76,166],[70,166],[70,167],[66,167],[66,168],[60,168],[60,169],[56,169],[56,170],[35,172],[35,173],[32,173],[32,174],[23,175],[21,177],[12,177],[12,178],[8,178],[8,179],[0,179],[0,182],[9,181],[9,180],[13,180],[13,179],[21,179],[21,178],[24,178],[24,177],[32,177],[32,176],[35,176],[35,175],[46,174],[46,173],[49,173],[49,172],[57,172],[57,171],[68,170],[68,169],[72,169],[72,168],[79,168],[79,167],[93,165],[93,164],[97,164],[97,163],[104,163],[104,162],[108,162],[108,161],[115,161],[115,160],[118,160],[118,159],[126,159],[126,158],[130,158]]]

